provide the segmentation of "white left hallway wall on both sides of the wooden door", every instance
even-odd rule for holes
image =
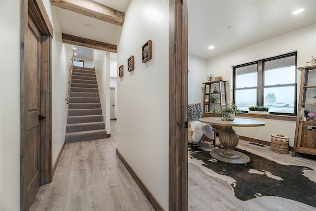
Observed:
[[[65,141],[71,46],[63,44],[50,1],[52,41],[53,163]],[[55,16],[56,17],[56,16]],[[20,1],[0,0],[0,210],[20,211]],[[69,61],[68,61],[69,60]],[[9,161],[9,162],[8,162]]]

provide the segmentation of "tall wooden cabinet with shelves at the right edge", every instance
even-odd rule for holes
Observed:
[[[302,71],[300,96],[297,109],[297,120],[292,156],[296,152],[316,155],[316,65],[299,68]]]

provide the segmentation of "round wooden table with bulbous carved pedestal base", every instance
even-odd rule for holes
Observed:
[[[233,150],[239,142],[239,136],[233,127],[256,127],[264,126],[265,123],[249,119],[235,119],[234,121],[222,121],[221,118],[205,117],[198,121],[210,125],[224,126],[219,133],[219,141],[225,149],[214,149],[210,152],[211,156],[219,161],[230,164],[246,164],[249,163],[249,156]]]

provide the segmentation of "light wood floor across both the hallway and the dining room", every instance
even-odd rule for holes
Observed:
[[[238,148],[273,159],[316,169],[316,161],[291,157],[239,141]],[[316,175],[310,175],[316,181]],[[316,191],[316,190],[311,190]],[[299,193],[298,193],[299,194]],[[66,144],[53,181],[43,185],[31,211],[153,211],[116,156],[116,121],[111,138]],[[237,199],[231,186],[188,164],[189,211],[316,211],[311,206],[280,198]]]

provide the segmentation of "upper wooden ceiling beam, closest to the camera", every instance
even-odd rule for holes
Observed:
[[[108,23],[122,26],[124,12],[104,6],[92,0],[50,0],[51,4]]]

